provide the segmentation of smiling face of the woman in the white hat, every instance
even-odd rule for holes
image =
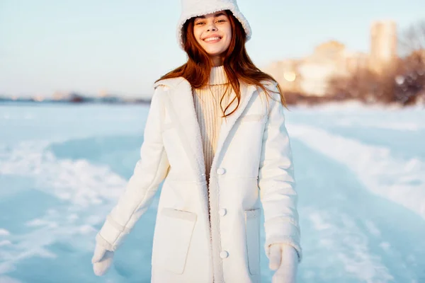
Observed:
[[[217,63],[232,40],[232,25],[227,14],[224,11],[209,13],[195,18],[193,24],[196,41]]]

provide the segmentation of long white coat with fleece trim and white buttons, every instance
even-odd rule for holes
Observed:
[[[277,91],[272,83],[266,87]],[[96,241],[116,250],[165,179],[152,282],[260,282],[261,204],[266,253],[273,243],[288,243],[301,260],[297,192],[280,96],[271,93],[276,100],[267,103],[261,88],[241,83],[239,107],[222,122],[208,187],[190,83],[165,79],[154,88],[141,158]]]

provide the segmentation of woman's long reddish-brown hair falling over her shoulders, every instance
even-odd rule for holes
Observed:
[[[241,91],[239,86],[239,81],[243,81],[247,84],[252,84],[255,86],[259,86],[267,96],[271,97],[265,86],[261,81],[272,81],[276,82],[272,76],[264,73],[259,68],[257,68],[254,63],[249,58],[246,49],[246,33],[242,24],[235,18],[231,11],[225,10],[227,16],[230,21],[230,25],[232,26],[232,40],[230,41],[229,48],[227,52],[224,54],[223,67],[225,69],[227,79],[229,81],[229,85],[233,88],[236,97],[233,98],[232,101],[226,106],[223,111],[223,117],[231,115],[239,106],[239,101],[241,98]],[[190,18],[183,25],[183,45],[186,54],[188,55],[188,61],[182,66],[169,71],[169,73],[165,74],[157,81],[162,79],[171,79],[182,76],[186,79],[193,88],[201,88],[208,84],[210,79],[210,71],[213,67],[212,60],[208,56],[208,53],[203,50],[203,47],[199,45],[196,41],[195,36],[193,35],[193,25],[195,18]],[[282,105],[286,107],[285,97],[283,96],[283,91],[278,85],[278,92],[280,94],[280,102]],[[220,100],[221,101],[224,97]],[[229,112],[225,114],[229,105],[232,104],[234,99],[237,99],[237,106]]]

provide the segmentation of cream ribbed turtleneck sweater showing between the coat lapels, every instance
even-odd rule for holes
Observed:
[[[223,66],[212,67],[208,86],[193,89],[193,102],[200,127],[203,141],[203,153],[205,157],[205,175],[207,182],[210,176],[212,158],[214,158],[217,146],[218,134],[222,123],[222,109],[228,104],[232,94],[232,87],[227,81]],[[220,107],[220,99],[225,94]],[[227,111],[227,113],[230,110]]]

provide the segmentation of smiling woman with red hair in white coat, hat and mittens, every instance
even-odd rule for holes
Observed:
[[[96,235],[96,275],[159,198],[152,282],[260,282],[260,216],[273,282],[301,260],[297,193],[278,83],[245,50],[235,0],[183,0],[188,62],[154,84],[141,158]]]

